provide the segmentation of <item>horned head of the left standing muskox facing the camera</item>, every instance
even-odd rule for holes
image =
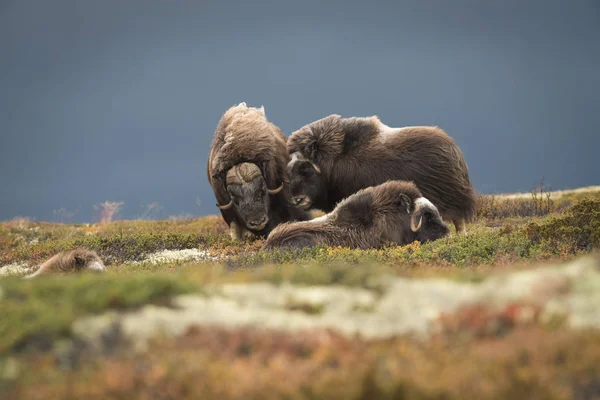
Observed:
[[[279,193],[283,184],[269,189],[256,164],[241,163],[227,171],[225,185],[230,201],[217,206],[221,210],[235,209],[241,222],[250,229],[264,229],[269,222],[269,195]]]

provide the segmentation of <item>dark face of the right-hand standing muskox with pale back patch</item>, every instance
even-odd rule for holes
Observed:
[[[313,204],[318,203],[323,193],[321,170],[300,153],[292,154],[287,170],[292,204],[304,210],[310,209]]]

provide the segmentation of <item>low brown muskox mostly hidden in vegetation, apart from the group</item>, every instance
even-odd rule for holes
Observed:
[[[104,263],[95,251],[78,248],[61,251],[44,262],[37,271],[24,278],[30,279],[40,275],[70,274],[86,271],[104,272]]]

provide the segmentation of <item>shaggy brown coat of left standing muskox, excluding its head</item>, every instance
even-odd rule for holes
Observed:
[[[264,237],[281,222],[304,221],[309,218],[305,211],[295,208],[290,203],[286,170],[289,160],[286,138],[279,127],[267,120],[263,107],[247,107],[246,103],[240,103],[223,114],[215,130],[206,166],[206,174],[217,199],[217,206],[230,202],[227,174],[232,167],[243,163],[258,166],[267,189],[275,190],[283,185],[279,193],[270,197],[269,223],[260,231],[241,226],[242,219],[235,207],[220,209],[227,225],[241,231],[232,236],[242,236],[245,230]],[[242,172],[236,171],[236,174]],[[243,178],[249,179],[250,176]]]

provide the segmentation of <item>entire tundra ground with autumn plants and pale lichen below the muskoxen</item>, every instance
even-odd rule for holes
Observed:
[[[261,243],[218,217],[3,223],[0,398],[600,398],[598,191],[482,197],[423,245]],[[108,272],[20,278],[78,246]]]

